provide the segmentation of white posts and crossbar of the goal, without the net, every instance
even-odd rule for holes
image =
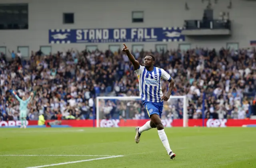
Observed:
[[[100,127],[100,110],[99,110],[99,101],[100,99],[118,99],[118,100],[135,100],[141,99],[139,96],[99,96],[96,97],[96,127]],[[187,126],[188,121],[188,101],[186,96],[171,96],[170,99],[183,99],[183,127]]]

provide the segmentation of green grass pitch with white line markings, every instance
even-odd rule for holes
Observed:
[[[256,168],[256,128],[165,131],[176,153],[174,160],[167,155],[156,129],[143,132],[136,144],[131,127],[0,128],[0,168]],[[59,163],[64,164],[55,165]]]

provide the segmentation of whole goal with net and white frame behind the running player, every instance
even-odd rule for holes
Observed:
[[[164,102],[162,123],[165,127],[187,126],[186,96],[171,96]],[[142,126],[150,120],[140,97],[96,97],[96,126]]]

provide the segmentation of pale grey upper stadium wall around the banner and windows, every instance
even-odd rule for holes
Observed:
[[[202,19],[207,6],[207,2],[202,4],[202,0],[0,0],[0,3],[22,2],[29,3],[29,30],[1,30],[0,46],[6,46],[7,51],[16,51],[20,45],[29,46],[30,51],[38,50],[40,45],[51,45],[54,53],[71,47],[82,50],[85,43],[49,44],[48,30],[183,26],[184,20]],[[188,2],[188,11],[184,8],[185,2]],[[212,0],[215,18],[218,18],[220,11],[230,12],[231,37],[186,38],[183,43],[218,49],[226,47],[227,42],[239,42],[239,47],[248,47],[250,40],[256,40],[256,1],[232,0],[232,9],[226,8],[228,4],[229,0],[218,0],[218,4]],[[132,11],[136,10],[144,11],[144,23],[132,23]],[[75,24],[62,24],[64,12],[74,12]],[[128,43],[128,47],[131,48],[132,44]],[[139,44],[144,44],[144,49],[149,50],[154,49],[156,43]],[[168,43],[168,48],[177,48],[178,44]],[[99,49],[108,49],[110,44],[96,45]]]

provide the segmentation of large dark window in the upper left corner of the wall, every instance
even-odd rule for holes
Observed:
[[[0,4],[0,30],[28,29],[28,4]]]

